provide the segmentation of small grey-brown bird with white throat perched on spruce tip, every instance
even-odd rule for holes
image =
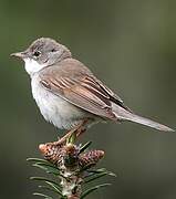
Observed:
[[[39,38],[12,56],[24,61],[33,98],[46,122],[60,129],[84,129],[99,122],[134,122],[163,132],[174,129],[136,115],[71,51],[50,38]]]

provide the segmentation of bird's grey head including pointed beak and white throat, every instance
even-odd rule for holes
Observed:
[[[25,62],[25,70],[29,74],[72,56],[66,46],[50,38],[40,38],[32,42],[25,51],[11,55],[18,56]]]

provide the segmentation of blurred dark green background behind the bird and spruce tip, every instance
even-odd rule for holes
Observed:
[[[0,198],[34,198],[28,178],[38,170],[25,159],[62,133],[39,113],[23,63],[9,57],[37,38],[65,44],[132,109],[176,128],[176,1],[0,0]],[[90,139],[106,151],[100,166],[117,174],[90,198],[176,198],[176,134],[108,123]]]

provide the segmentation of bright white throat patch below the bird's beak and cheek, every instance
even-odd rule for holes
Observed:
[[[31,76],[45,66],[44,64],[39,64],[37,61],[32,59],[24,59],[24,62],[25,62],[25,71]]]

